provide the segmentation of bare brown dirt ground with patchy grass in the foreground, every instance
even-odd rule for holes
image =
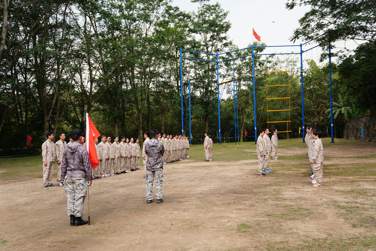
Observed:
[[[374,155],[376,144],[324,148],[322,188],[312,187],[305,148],[279,149],[265,177],[258,176],[254,147],[238,149],[249,160],[215,161],[226,151],[235,150],[218,146],[211,162],[192,157],[165,165],[161,204],[146,203],[143,167],[94,180],[91,225],[80,227],[69,224],[62,187],[44,189],[40,178],[1,180],[0,249],[376,249],[376,157],[358,157]],[[359,173],[362,164],[371,174]],[[336,175],[343,166],[352,175]]]

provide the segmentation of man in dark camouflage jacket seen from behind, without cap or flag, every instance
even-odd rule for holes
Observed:
[[[162,184],[163,184],[163,162],[164,147],[162,142],[158,142],[158,130],[151,131],[152,139],[144,145],[147,155],[146,161],[146,201],[152,203],[153,182],[155,178],[155,196],[157,203],[163,202]]]

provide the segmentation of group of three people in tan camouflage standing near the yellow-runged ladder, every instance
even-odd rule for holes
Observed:
[[[259,176],[265,176],[265,173],[270,173],[269,163],[270,163],[270,154],[273,157],[273,160],[277,160],[277,151],[278,151],[278,136],[277,128],[274,128],[274,131],[271,132],[271,139],[269,137],[269,129],[265,128],[264,130],[259,129],[259,137],[257,138],[257,158],[258,158],[258,172]]]

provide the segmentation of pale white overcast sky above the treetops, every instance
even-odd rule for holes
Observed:
[[[305,12],[309,11],[308,6],[298,6],[289,11],[285,8],[287,0],[211,0],[209,3],[214,4],[216,2],[220,3],[225,11],[229,11],[227,20],[231,22],[232,26],[228,35],[239,48],[245,48],[252,43],[252,27],[261,37],[261,42],[266,43],[267,46],[304,43],[304,41],[290,42],[290,37],[294,30],[299,27],[298,20],[303,17]],[[173,5],[179,6],[183,11],[197,11],[199,7],[199,3],[191,3],[190,0],[174,0]],[[253,40],[256,41],[255,38]],[[355,43],[349,41],[346,43],[347,46],[350,44],[353,44],[354,48],[356,47]],[[315,44],[310,44],[305,50],[313,46]],[[340,47],[341,43],[337,43],[337,46]],[[264,53],[288,53],[292,51],[300,52],[299,46],[268,48],[265,49]],[[320,48],[315,48],[304,53],[303,60],[314,59],[318,63],[320,53]]]

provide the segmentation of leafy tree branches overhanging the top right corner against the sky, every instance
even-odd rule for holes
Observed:
[[[319,35],[316,42],[324,51],[329,43],[335,47],[340,40],[374,41],[376,39],[376,0],[288,0],[287,9],[309,5],[311,9],[300,18],[300,27],[294,31],[291,41],[311,40]],[[340,49],[332,56],[343,55],[348,48]],[[325,52],[321,60],[328,56]]]

